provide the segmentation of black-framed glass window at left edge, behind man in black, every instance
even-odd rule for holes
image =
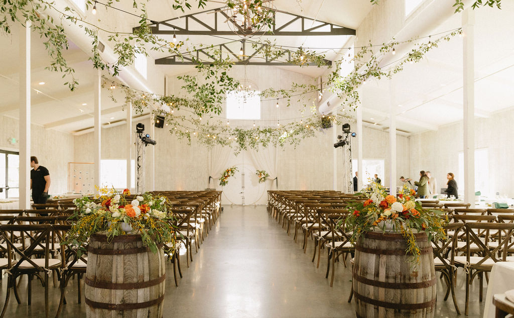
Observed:
[[[20,196],[20,156],[18,152],[0,150],[0,199]]]

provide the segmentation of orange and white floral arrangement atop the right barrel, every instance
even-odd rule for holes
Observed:
[[[442,210],[423,209],[415,201],[416,191],[407,186],[394,197],[388,195],[380,184],[372,182],[371,187],[357,195],[368,199],[349,204],[348,209],[352,214],[343,220],[346,230],[352,233],[353,243],[368,231],[401,233],[407,242],[406,254],[411,256],[413,265],[418,265],[421,252],[415,233],[425,232],[429,241],[447,238],[443,226],[448,222],[448,217]]]

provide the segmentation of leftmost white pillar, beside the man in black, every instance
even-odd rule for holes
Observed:
[[[30,209],[30,30],[20,28],[20,209]]]

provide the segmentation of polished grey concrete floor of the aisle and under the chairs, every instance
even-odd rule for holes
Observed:
[[[351,269],[336,264],[334,287],[325,279],[326,251],[320,268],[312,263],[313,242],[307,254],[266,213],[264,206],[226,206],[197,254],[191,267],[181,258],[183,278],[175,287],[173,267],[167,266],[164,318],[306,318],[355,317],[354,304],[346,302],[351,288]],[[20,286],[22,304],[11,301],[5,317],[44,316],[44,289],[34,281],[32,305],[26,304],[26,278]],[[464,311],[464,275],[458,275],[457,296]],[[3,305],[6,276],[0,289]],[[483,316],[478,302],[478,284],[471,288],[470,318]],[[451,300],[443,301],[443,284],[437,283],[435,317],[458,317]],[[67,288],[68,304],[61,317],[84,317],[85,304],[77,304],[76,280]],[[485,298],[485,291],[484,291]],[[53,317],[59,303],[59,288],[50,288]],[[462,315],[462,317],[465,317]]]

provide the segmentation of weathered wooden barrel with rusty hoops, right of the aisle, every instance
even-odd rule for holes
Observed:
[[[353,288],[358,318],[433,317],[436,278],[432,245],[415,234],[421,252],[412,268],[400,233],[368,232],[355,246]]]

